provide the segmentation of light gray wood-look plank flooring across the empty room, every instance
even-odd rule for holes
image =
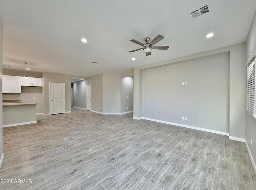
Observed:
[[[3,129],[0,179],[12,183],[1,190],[256,189],[244,143],[132,114],[71,111]]]

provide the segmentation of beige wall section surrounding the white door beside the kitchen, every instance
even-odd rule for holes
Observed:
[[[65,83],[65,110],[71,111],[71,94],[70,94],[70,75],[58,74],[58,73],[43,73],[43,113],[50,113],[50,87],[49,83]]]

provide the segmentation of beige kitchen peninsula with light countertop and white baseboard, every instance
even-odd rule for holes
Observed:
[[[3,101],[3,127],[36,123],[36,105],[21,101]]]

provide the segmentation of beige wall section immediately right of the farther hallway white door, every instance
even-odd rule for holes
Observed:
[[[103,113],[103,73],[86,80],[92,85],[92,111]]]

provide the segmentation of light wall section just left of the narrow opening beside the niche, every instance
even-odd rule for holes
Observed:
[[[104,114],[122,113],[120,73],[103,73],[103,95]]]

